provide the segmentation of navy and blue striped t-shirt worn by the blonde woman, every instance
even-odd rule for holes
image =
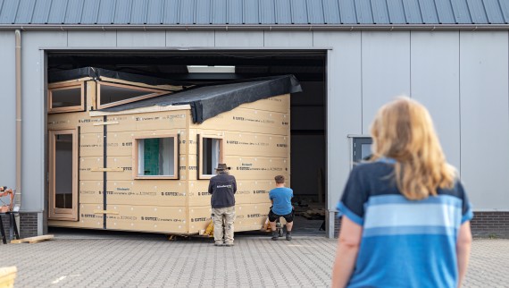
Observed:
[[[348,287],[456,287],[456,239],[473,216],[462,183],[408,200],[393,163],[355,166],[338,203],[340,215],[363,226]]]

